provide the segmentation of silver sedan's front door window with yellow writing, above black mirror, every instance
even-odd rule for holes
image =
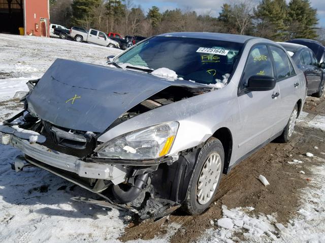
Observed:
[[[248,79],[253,75],[273,77],[272,62],[266,45],[258,45],[250,51],[242,80],[247,85]]]

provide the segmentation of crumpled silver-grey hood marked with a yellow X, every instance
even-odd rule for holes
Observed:
[[[26,99],[30,113],[56,126],[102,133],[121,114],[169,86],[206,87],[57,59]]]

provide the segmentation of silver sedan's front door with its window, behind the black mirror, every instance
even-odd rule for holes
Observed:
[[[271,138],[278,115],[277,86],[270,91],[245,92],[248,79],[253,75],[274,76],[266,45],[257,45],[250,50],[239,87],[240,122],[237,136],[240,157]]]

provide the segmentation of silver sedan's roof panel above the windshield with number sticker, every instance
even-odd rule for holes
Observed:
[[[237,43],[245,43],[248,39],[257,38],[248,35],[223,34],[223,33],[211,33],[211,32],[176,32],[176,33],[159,34],[158,36],[215,39],[217,41],[226,41],[226,42],[232,41]]]

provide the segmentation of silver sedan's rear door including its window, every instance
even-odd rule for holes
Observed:
[[[295,69],[286,52],[279,47],[269,46],[272,62],[275,67],[275,77],[280,90],[280,103],[277,107],[277,119],[273,134],[282,132],[298,101],[300,82]]]

